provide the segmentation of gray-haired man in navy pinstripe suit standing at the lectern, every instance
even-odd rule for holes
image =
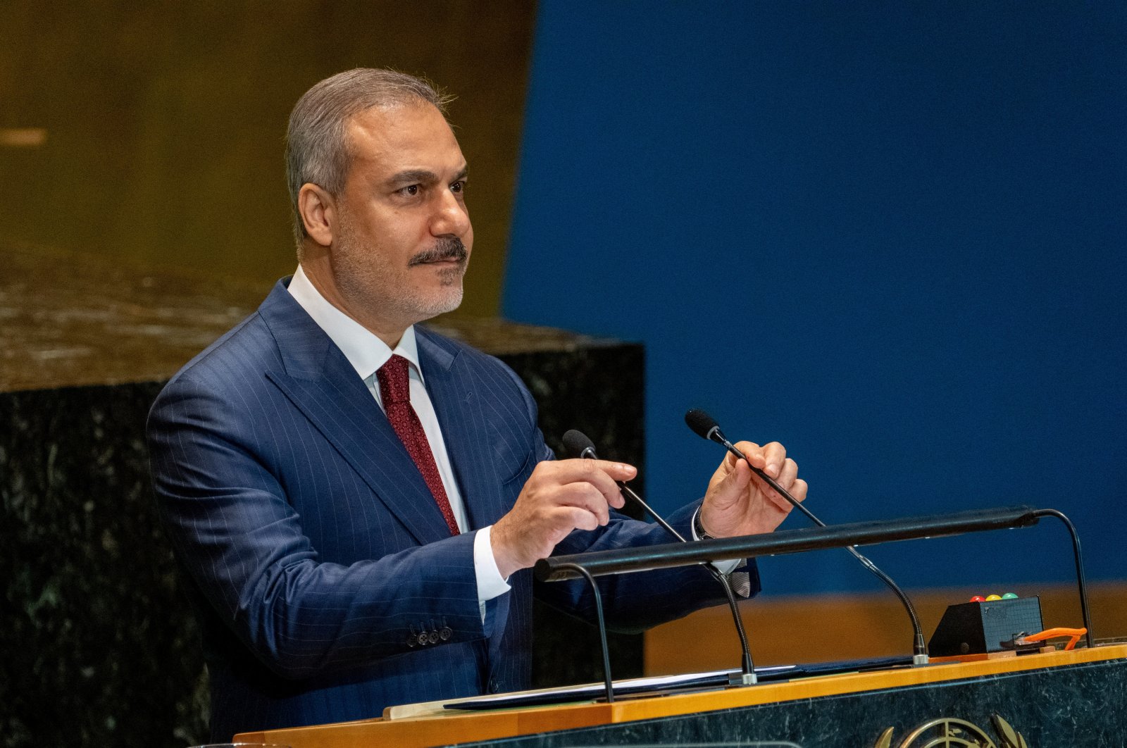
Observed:
[[[614,481],[632,466],[552,460],[512,371],[415,327],[459,305],[473,246],[443,105],[424,81],[380,70],[302,97],[286,152],[298,270],[150,415],[215,739],[525,687],[530,567],[668,541],[614,511]],[[739,446],[806,495],[781,445]],[[788,510],[729,456],[669,520],[720,537],[770,532]],[[743,573],[757,589],[754,566]],[[535,591],[591,615],[582,585]],[[700,569],[604,580],[603,594],[628,630],[724,600]]]

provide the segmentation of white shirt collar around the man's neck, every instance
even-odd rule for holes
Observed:
[[[407,328],[403,337],[399,339],[399,345],[392,350],[363,324],[326,301],[300,265],[293,274],[293,279],[290,280],[289,291],[294,301],[325,330],[337,348],[340,348],[362,380],[375,374],[393,354],[410,362],[419,379],[423,379],[418,346],[415,342],[415,326]]]

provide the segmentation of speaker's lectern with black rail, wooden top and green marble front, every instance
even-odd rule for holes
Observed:
[[[746,687],[682,689],[554,705],[464,711],[436,703],[402,719],[267,730],[237,740],[292,748],[353,745],[1032,746],[1127,745],[1116,715],[1127,701],[1127,644],[1091,638],[1080,541],[1064,515],[1028,506],[779,531],[544,559],[542,581],[632,573],[707,561],[1065,523],[1073,540],[1086,647],[1010,652],[996,659],[767,680]],[[607,673],[607,689],[610,674]],[[538,702],[532,701],[530,704]],[[488,704],[487,704],[488,705]],[[940,742],[935,742],[940,740]],[[948,740],[948,742],[942,742]],[[956,740],[957,742],[950,742]]]

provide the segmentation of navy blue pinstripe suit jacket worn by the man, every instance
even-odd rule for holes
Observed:
[[[188,363],[149,417],[161,515],[203,623],[213,738],[526,687],[531,571],[511,578],[482,623],[474,533],[450,536],[363,381],[284,283]],[[471,528],[490,525],[552,457],[535,404],[496,358],[417,333]],[[671,517],[683,534],[693,508]],[[557,552],[667,540],[615,516]],[[580,585],[535,593],[589,617]],[[625,629],[724,599],[698,569],[628,575],[603,594]],[[408,644],[443,627],[445,641]]]

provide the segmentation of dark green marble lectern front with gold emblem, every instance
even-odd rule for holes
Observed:
[[[1127,746],[1124,704],[1117,659],[459,745],[1017,748],[1009,728],[1030,748],[1112,748]]]

